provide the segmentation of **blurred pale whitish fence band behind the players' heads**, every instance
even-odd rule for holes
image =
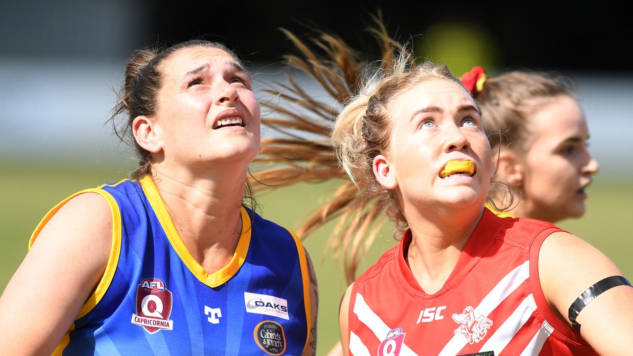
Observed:
[[[273,81],[285,81],[278,68],[265,67],[257,75],[260,101],[275,102],[262,89]],[[128,156],[110,126],[103,126],[122,73],[123,68],[111,62],[0,61],[0,159],[94,162]],[[590,149],[602,174],[633,172],[633,75],[565,74],[579,87],[591,131]],[[316,98],[329,99],[318,86],[306,84]],[[263,130],[264,137],[274,134]]]

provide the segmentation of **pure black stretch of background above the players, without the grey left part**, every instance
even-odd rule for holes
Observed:
[[[399,4],[398,4],[399,3]],[[237,13],[223,13],[220,6],[189,1],[163,1],[156,8],[151,35],[165,41],[185,41],[197,35],[217,34],[229,39],[242,55],[253,61],[275,61],[294,48],[277,30],[285,27],[298,35],[313,29],[337,34],[353,48],[371,51],[374,42],[366,29],[370,14],[381,9],[389,34],[406,41],[411,35],[439,23],[462,23],[483,29],[496,40],[503,67],[559,70],[630,70],[629,48],[623,42],[624,10],[597,4],[554,8],[534,2],[517,4],[456,4],[370,1],[362,6],[343,1],[260,1]],[[183,5],[185,4],[185,5]],[[298,5],[302,4],[302,5]],[[629,35],[631,34],[629,30]]]

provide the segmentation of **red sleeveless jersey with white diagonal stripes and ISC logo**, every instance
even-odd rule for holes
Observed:
[[[561,231],[484,209],[442,289],[424,293],[404,261],[407,231],[351,293],[349,352],[367,355],[596,355],[549,308],[539,283],[542,242]]]

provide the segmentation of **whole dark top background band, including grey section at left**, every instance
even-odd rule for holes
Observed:
[[[146,44],[204,37],[225,42],[248,61],[274,63],[294,51],[279,27],[304,39],[324,30],[373,54],[377,48],[367,29],[370,15],[382,9],[389,34],[401,41],[417,36],[415,41],[437,46],[428,35],[446,23],[480,32],[492,46],[495,67],[632,72],[625,56],[629,16],[607,3],[60,0],[0,6],[4,57],[122,60]]]

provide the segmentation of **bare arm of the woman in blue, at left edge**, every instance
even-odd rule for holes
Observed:
[[[61,207],[0,297],[0,350],[50,355],[103,276],[111,243],[112,215],[99,194]]]

